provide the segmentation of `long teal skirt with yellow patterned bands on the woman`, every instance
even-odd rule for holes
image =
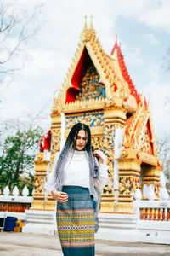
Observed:
[[[94,208],[86,188],[64,186],[69,198],[57,203],[59,240],[65,256],[94,256]]]

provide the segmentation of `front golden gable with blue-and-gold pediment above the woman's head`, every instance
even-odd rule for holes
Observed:
[[[89,28],[85,20],[80,38],[81,43],[59,96],[54,99],[52,112],[71,113],[79,106],[81,109],[101,109],[113,105],[115,99],[121,99],[125,103],[124,108],[127,108],[126,102],[133,102],[132,99],[128,101],[131,90],[127,81],[117,74],[114,58],[105,53],[99,38],[96,38],[92,20]]]

